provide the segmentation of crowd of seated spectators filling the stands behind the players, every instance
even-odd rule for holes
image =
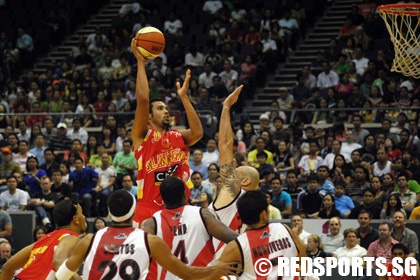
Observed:
[[[26,69],[20,84],[10,74],[0,94],[0,207],[35,211],[44,232],[54,228],[52,208],[61,199],[80,201],[86,217],[106,217],[106,199],[113,190],[137,194],[130,130],[136,67],[128,47],[137,30],[155,24],[153,11],[129,2],[131,8],[122,7],[110,30],[98,27],[81,36],[65,61],[52,60],[40,75]],[[193,71],[189,97],[203,126],[217,126],[227,95],[244,84],[242,100],[252,98],[266,74],[296,49],[308,26],[298,2],[279,14],[269,8],[248,13],[241,3],[223,3],[204,3],[202,10],[212,19],[206,26],[208,40],[187,49],[175,13],[162,25],[167,48],[147,63],[147,71],[150,98],[167,103],[172,125],[185,124],[175,82],[182,81],[186,68]],[[403,222],[420,218],[419,116],[418,108],[412,108],[419,106],[420,85],[390,73],[388,49],[375,44],[385,36],[378,22],[370,1],[355,6],[329,48],[297,74],[296,86],[279,88],[279,98],[260,116],[258,129],[244,121],[236,131],[237,165],[258,169],[272,218],[292,218],[299,234],[302,217],[339,216],[358,219],[361,227],[354,231],[362,239],[373,231],[361,222],[367,215],[369,221],[392,221],[394,238],[405,243]],[[15,44],[6,40],[6,45]],[[241,113],[243,106],[239,103],[234,111]],[[292,111],[302,107],[320,110]],[[363,128],[377,122],[379,130]],[[333,126],[315,128],[318,124]],[[346,128],[349,124],[352,129]],[[88,132],[92,127],[99,133]],[[217,141],[217,132],[207,135],[204,151],[191,151],[191,204],[207,207],[222,184]],[[395,218],[399,213],[402,217]],[[328,238],[335,249],[345,247],[344,240],[354,247],[354,231],[337,241],[332,230],[337,225],[331,221]],[[317,254],[320,241],[309,234],[306,238],[311,254]],[[413,244],[406,245],[418,253]]]

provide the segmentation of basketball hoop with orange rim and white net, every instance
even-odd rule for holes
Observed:
[[[389,4],[378,7],[385,22],[395,57],[391,71],[420,78],[420,4]]]

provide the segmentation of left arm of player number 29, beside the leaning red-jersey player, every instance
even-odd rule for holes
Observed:
[[[70,257],[60,265],[59,269],[57,269],[57,273],[55,274],[56,279],[68,280],[77,272],[85,260],[92,237],[93,234],[88,234],[84,238],[80,239],[79,242],[77,242],[76,246],[72,250]],[[73,274],[61,273],[62,271],[68,270]]]

